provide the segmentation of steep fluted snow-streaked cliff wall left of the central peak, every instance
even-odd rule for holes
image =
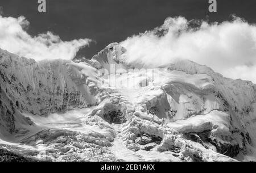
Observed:
[[[96,69],[86,64],[36,62],[0,50],[1,122],[14,132],[15,113],[47,115],[95,105],[97,91],[90,87],[95,73]]]

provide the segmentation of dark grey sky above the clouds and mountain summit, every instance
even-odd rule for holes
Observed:
[[[47,12],[38,12],[38,0],[0,0],[3,16],[24,15],[28,33],[52,31],[62,40],[95,40],[79,53],[91,58],[112,42],[163,24],[168,16],[222,22],[236,14],[256,23],[255,0],[217,0],[217,12],[208,11],[208,0],[46,0]]]

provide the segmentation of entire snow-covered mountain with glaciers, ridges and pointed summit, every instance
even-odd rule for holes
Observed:
[[[38,161],[255,159],[256,85],[187,60],[142,67],[117,43],[83,62],[0,50],[0,149]]]

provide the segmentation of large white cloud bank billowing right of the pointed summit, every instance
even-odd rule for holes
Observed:
[[[256,83],[256,26],[241,18],[222,23],[167,18],[162,26],[120,44],[129,63],[157,67],[188,59],[225,77]]]

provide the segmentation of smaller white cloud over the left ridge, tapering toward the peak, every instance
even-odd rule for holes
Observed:
[[[51,32],[32,37],[26,32],[28,26],[29,22],[24,16],[12,18],[0,15],[0,48],[35,60],[57,58],[71,60],[80,48],[89,45],[91,41],[90,39],[62,41],[59,36]]]

